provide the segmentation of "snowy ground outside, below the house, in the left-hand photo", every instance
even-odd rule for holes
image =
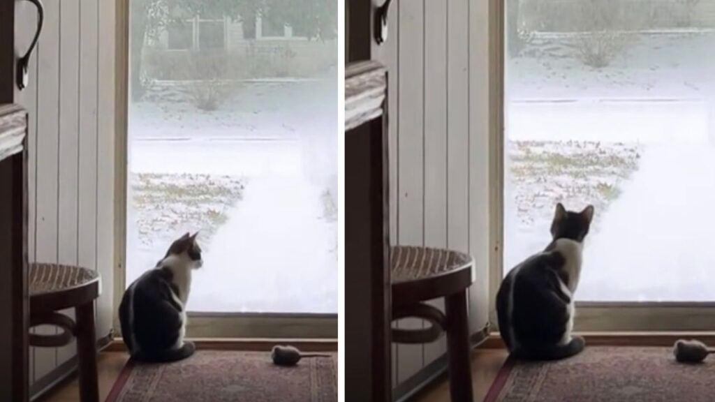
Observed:
[[[129,171],[154,183],[134,180],[129,199],[169,184],[189,194],[129,205],[127,283],[172,238],[202,230],[189,310],[335,313],[335,72],[227,85],[215,112],[199,111],[176,85],[150,91],[130,109]]]

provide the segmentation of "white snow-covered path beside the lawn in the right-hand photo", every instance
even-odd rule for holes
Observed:
[[[715,146],[648,149],[586,244],[580,300],[715,300]]]

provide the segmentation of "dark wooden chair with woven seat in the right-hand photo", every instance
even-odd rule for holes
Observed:
[[[474,260],[469,255],[430,247],[392,247],[393,320],[423,318],[424,329],[393,328],[396,343],[429,343],[447,334],[452,401],[471,402],[467,289],[474,281]],[[445,313],[424,303],[445,298]]]

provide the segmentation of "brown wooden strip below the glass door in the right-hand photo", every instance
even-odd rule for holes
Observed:
[[[586,345],[593,346],[672,346],[679,339],[699,339],[715,345],[715,332],[583,332],[576,333],[586,338]],[[479,346],[485,349],[503,349],[504,341],[499,333],[490,333]]]

